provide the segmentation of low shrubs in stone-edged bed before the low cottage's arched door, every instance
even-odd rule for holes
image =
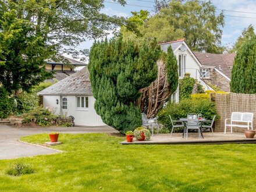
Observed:
[[[38,106],[37,108],[24,113],[22,123],[35,122],[40,126],[54,125],[57,116],[53,115],[49,109]]]

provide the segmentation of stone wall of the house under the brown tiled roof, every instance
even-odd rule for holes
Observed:
[[[230,81],[216,72],[215,69],[210,69],[210,79],[204,79],[207,84],[219,87],[222,91],[230,92]]]

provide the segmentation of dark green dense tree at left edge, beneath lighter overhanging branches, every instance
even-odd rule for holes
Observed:
[[[33,23],[16,16],[15,10],[10,10],[0,20],[0,84],[9,93],[30,90],[52,77],[42,66],[51,55],[51,48],[35,35]]]

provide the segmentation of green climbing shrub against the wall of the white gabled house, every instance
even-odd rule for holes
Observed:
[[[195,79],[189,76],[184,76],[184,78],[179,81],[180,100],[190,98],[194,84]]]

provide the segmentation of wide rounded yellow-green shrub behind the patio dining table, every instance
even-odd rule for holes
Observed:
[[[159,113],[159,123],[163,126],[172,129],[172,123],[170,122],[169,115],[172,119],[187,118],[189,113],[201,113],[202,117],[211,120],[214,115],[216,119],[219,118],[214,102],[209,99],[183,99],[179,103],[169,102]],[[215,119],[215,120],[216,120]]]

